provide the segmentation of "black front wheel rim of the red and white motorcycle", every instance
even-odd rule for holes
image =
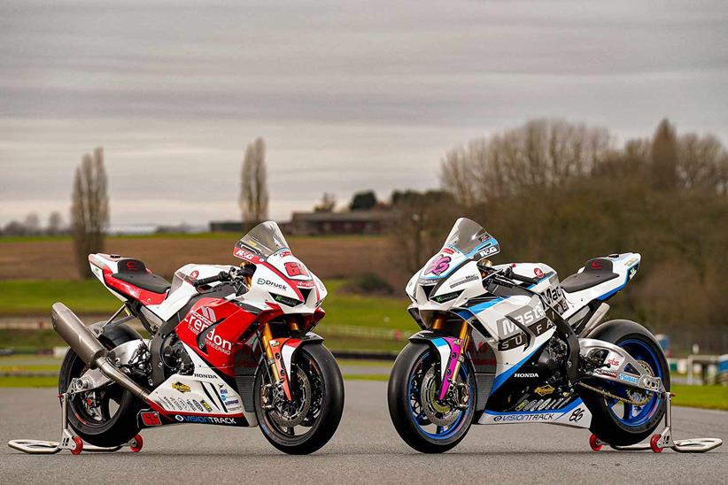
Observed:
[[[316,425],[321,420],[321,403],[323,398],[323,373],[314,358],[311,358],[305,352],[301,352],[301,358],[296,364],[296,371],[290,375],[296,375],[297,381],[291,382],[291,394],[293,399],[290,402],[282,403],[273,410],[266,410],[262,402],[264,396],[263,389],[266,386],[267,379],[261,380],[260,386],[260,407],[263,413],[265,428],[269,433],[274,435],[278,441],[290,442],[298,440],[306,440],[308,435],[314,433]],[[265,375],[265,374],[264,374]],[[306,379],[307,384],[303,384],[299,379]],[[308,395],[306,396],[306,393]],[[306,400],[303,403],[302,400]],[[305,415],[297,420],[295,426],[283,425],[281,419],[283,415],[291,416],[293,412],[304,412]],[[277,413],[277,415],[276,415]],[[296,421],[291,421],[296,422]]]

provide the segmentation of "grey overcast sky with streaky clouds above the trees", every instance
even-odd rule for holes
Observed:
[[[724,0],[0,0],[0,223],[66,215],[99,145],[125,225],[239,217],[257,136],[275,219],[437,187],[446,150],[535,117],[726,142],[726,26]]]

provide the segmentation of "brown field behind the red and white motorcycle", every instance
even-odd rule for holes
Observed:
[[[114,236],[105,252],[142,260],[154,273],[170,277],[188,263],[237,265],[232,255],[242,234]],[[405,275],[393,264],[386,236],[289,237],[290,249],[322,279],[351,278],[376,273],[396,288]],[[68,236],[0,238],[0,281],[75,280],[73,242]]]

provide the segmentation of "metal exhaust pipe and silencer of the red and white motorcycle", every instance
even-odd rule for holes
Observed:
[[[65,304],[53,304],[50,311],[50,320],[53,322],[53,329],[90,369],[97,368],[106,377],[122,388],[127,389],[134,396],[139,397],[146,403],[149,402],[149,393],[135,381],[132,381],[127,374],[122,373],[116,366],[112,365],[109,359],[106,358],[109,351],[98,341],[97,336],[89,327],[86,327]]]

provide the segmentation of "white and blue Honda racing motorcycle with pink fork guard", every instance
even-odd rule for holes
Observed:
[[[422,331],[391,371],[391,420],[426,453],[452,449],[472,423],[588,427],[592,448],[639,443],[669,408],[670,372],[645,327],[603,321],[639,254],[586,262],[559,282],[541,263],[493,266],[499,243],[458,219],[407,283]],[[653,443],[654,442],[654,443]],[[670,436],[653,435],[653,450]]]

